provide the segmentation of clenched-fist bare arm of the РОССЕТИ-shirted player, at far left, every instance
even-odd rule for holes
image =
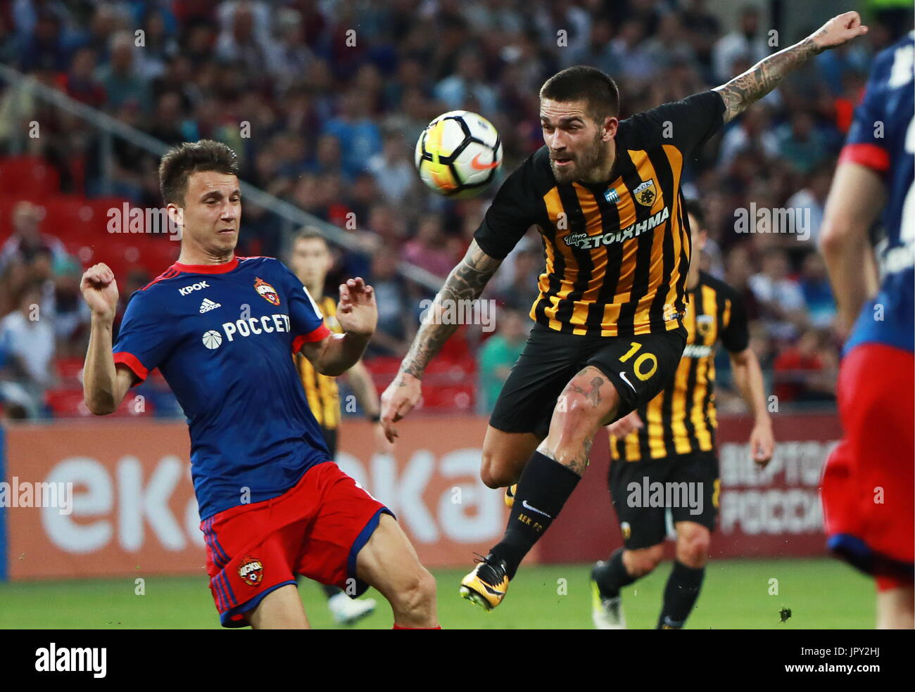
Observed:
[[[94,415],[113,413],[133,384],[134,375],[126,367],[115,367],[112,355],[114,313],[117,309],[117,282],[107,264],[87,269],[80,283],[82,297],[92,309],[89,350],[82,371],[83,402]]]

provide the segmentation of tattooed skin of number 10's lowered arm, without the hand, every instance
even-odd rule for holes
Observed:
[[[480,250],[477,241],[470,243],[467,254],[457,267],[451,270],[445,285],[436,295],[436,300],[426,313],[426,320],[420,326],[410,351],[401,363],[401,372],[423,377],[425,367],[436,356],[441,347],[445,345],[448,337],[458,331],[459,325],[436,324],[436,314],[442,312],[445,301],[473,301],[479,298],[480,293],[490,281],[490,277],[499,269],[501,260],[495,260]]]

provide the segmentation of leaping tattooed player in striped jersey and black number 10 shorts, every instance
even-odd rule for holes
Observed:
[[[810,37],[714,90],[619,121],[619,91],[598,69],[564,69],[540,90],[544,147],[502,184],[463,261],[429,314],[479,298],[501,261],[535,226],[546,269],[531,336],[490,417],[480,475],[518,484],[499,544],[461,581],[490,609],[587,467],[597,430],[654,398],[683,354],[690,240],[683,166],[705,140],[792,69],[867,31],[836,16]],[[422,378],[458,325],[429,320],[382,394],[382,421],[420,399]]]

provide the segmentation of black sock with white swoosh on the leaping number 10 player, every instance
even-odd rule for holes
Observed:
[[[509,579],[514,577],[533,544],[553,523],[580,480],[581,476],[567,466],[533,452],[518,480],[505,535],[501,543],[490,550],[495,558],[505,560]]]

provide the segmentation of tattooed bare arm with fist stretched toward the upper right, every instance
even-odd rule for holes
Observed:
[[[827,48],[841,46],[852,38],[867,34],[867,27],[861,24],[857,12],[845,12],[834,16],[823,27],[790,48],[780,50],[759,62],[716,91],[725,101],[725,122],[733,120],[747,110],[749,105],[779,85],[779,82],[793,69],[799,68],[808,59]]]

